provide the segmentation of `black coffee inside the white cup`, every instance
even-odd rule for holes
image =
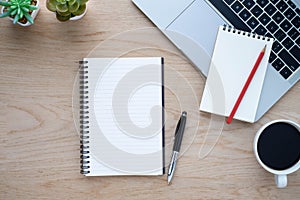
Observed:
[[[257,144],[260,160],[275,170],[285,170],[300,159],[300,133],[294,126],[277,122],[268,126]]]

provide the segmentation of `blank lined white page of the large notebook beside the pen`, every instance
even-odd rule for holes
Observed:
[[[163,173],[162,58],[88,58],[89,175]]]

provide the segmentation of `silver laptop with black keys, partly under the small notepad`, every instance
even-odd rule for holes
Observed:
[[[275,42],[256,121],[300,77],[300,0],[132,0],[205,76],[219,25]]]

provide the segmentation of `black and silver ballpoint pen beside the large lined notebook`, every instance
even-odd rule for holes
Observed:
[[[183,133],[184,133],[186,116],[187,116],[187,112],[183,111],[180,116],[180,119],[177,123],[177,126],[176,126],[175,140],[174,140],[174,145],[173,145],[173,153],[172,153],[172,158],[171,158],[169,171],[168,171],[168,184],[170,184],[172,177],[174,175],[176,162],[177,162],[177,158],[178,158],[178,154],[179,154],[180,146],[181,146],[181,141],[182,141],[182,137],[183,137]]]

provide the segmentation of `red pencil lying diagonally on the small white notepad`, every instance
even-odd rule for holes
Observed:
[[[254,64],[254,66],[253,66],[253,68],[252,68],[252,70],[251,70],[251,72],[250,72],[250,74],[248,76],[248,79],[247,79],[247,81],[246,81],[246,83],[245,83],[245,85],[244,85],[244,87],[243,87],[243,89],[242,89],[242,91],[241,91],[238,99],[236,100],[236,102],[235,102],[235,104],[233,106],[233,109],[232,109],[232,111],[231,111],[231,113],[230,113],[230,115],[229,115],[229,117],[228,117],[228,119],[226,121],[227,124],[231,123],[231,121],[233,119],[233,116],[236,113],[236,111],[237,111],[237,109],[238,109],[238,107],[239,107],[239,105],[240,105],[240,103],[241,103],[241,101],[242,101],[242,99],[243,99],[243,97],[244,97],[244,95],[245,95],[245,93],[246,93],[246,91],[247,91],[247,89],[248,89],[248,87],[249,87],[249,85],[250,85],[250,83],[251,83],[254,75],[255,75],[255,72],[256,72],[256,70],[259,67],[259,64],[260,64],[262,58],[264,57],[264,54],[265,54],[265,51],[266,51],[266,47],[267,47],[267,45],[265,45],[264,48],[261,50],[261,52],[260,52],[260,54],[259,54],[259,56],[258,56],[258,58],[257,58],[257,60],[256,60],[256,62]]]

